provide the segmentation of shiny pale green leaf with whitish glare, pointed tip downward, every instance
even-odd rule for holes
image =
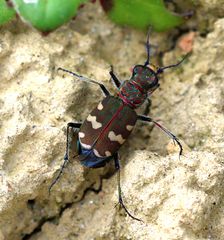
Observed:
[[[12,0],[22,19],[43,32],[49,32],[73,18],[86,0]]]

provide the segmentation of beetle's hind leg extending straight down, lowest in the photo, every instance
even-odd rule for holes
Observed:
[[[115,153],[114,155],[114,163],[115,163],[115,168],[117,170],[117,187],[118,187],[119,204],[121,205],[122,208],[124,208],[125,212],[128,214],[129,217],[131,217],[134,220],[142,222],[141,219],[134,217],[124,205],[123,198],[122,198],[122,191],[121,191],[121,183],[120,183],[120,163],[119,163],[118,153]]]

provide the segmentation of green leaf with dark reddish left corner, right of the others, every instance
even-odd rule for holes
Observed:
[[[183,22],[162,0],[101,0],[101,4],[110,19],[121,25],[140,29],[151,25],[156,31],[164,31]]]

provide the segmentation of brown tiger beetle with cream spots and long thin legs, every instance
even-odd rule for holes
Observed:
[[[118,150],[132,132],[136,122],[140,120],[147,123],[153,123],[155,126],[164,131],[171,139],[173,139],[174,143],[176,142],[178,144],[180,149],[179,156],[182,154],[182,145],[173,133],[161,126],[152,118],[144,115],[137,115],[135,109],[141,106],[159,87],[159,75],[163,73],[165,69],[179,66],[188,56],[188,54],[185,55],[184,58],[176,64],[165,67],[155,67],[150,64],[149,33],[147,36],[146,49],[146,62],[143,65],[139,64],[134,66],[132,76],[128,81],[121,82],[115,75],[113,67],[111,66],[109,73],[112,82],[118,90],[116,96],[112,96],[107,88],[99,82],[69,70],[58,68],[58,70],[69,73],[81,81],[98,85],[105,98],[95,109],[93,109],[84,122],[69,122],[67,124],[67,140],[64,162],[58,176],[50,185],[49,192],[53,185],[59,180],[63,169],[69,161],[69,130],[72,129],[78,133],[78,155],[75,157],[79,158],[79,161],[83,166],[89,168],[100,168],[105,166],[105,164],[111,159],[114,160],[115,169],[117,170],[119,204],[132,219],[142,221],[141,219],[134,217],[128,211],[123,202],[120,184],[120,163]]]

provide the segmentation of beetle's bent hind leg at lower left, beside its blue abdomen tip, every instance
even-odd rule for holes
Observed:
[[[69,159],[68,159],[68,148],[69,148],[69,141],[68,141],[68,138],[69,138],[69,128],[72,128],[72,129],[79,129],[81,127],[82,123],[68,123],[67,124],[67,130],[66,130],[66,151],[65,151],[65,156],[64,156],[64,162],[60,168],[60,171],[57,175],[57,177],[54,179],[54,181],[51,183],[50,187],[48,188],[48,192],[50,194],[51,192],[51,189],[52,187],[56,184],[56,182],[59,180],[59,178],[61,177],[61,174],[64,170],[64,168],[66,167],[67,163],[69,162]]]

